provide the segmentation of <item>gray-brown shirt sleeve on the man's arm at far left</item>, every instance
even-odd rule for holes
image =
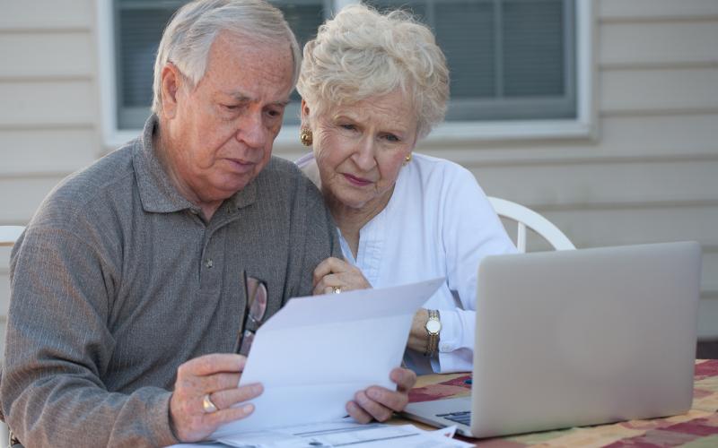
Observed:
[[[171,392],[109,392],[101,375],[117,271],[68,228],[31,225],[13,248],[0,401],[25,446],[175,444]]]

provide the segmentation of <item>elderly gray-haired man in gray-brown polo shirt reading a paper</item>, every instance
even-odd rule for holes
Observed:
[[[299,63],[264,2],[172,19],[143,134],[58,185],[13,249],[0,398],[22,443],[191,442],[252,412],[262,387],[238,387],[233,354],[246,279],[266,285],[266,319],[341,254],[319,192],[271,157]],[[349,413],[401,409],[416,377],[391,376],[397,392],[357,392]]]

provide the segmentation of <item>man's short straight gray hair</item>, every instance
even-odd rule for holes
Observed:
[[[285,17],[264,0],[196,0],[182,6],[162,33],[154,61],[152,110],[162,110],[162,68],[176,65],[192,84],[202,79],[215,38],[228,31],[262,45],[288,45],[294,60],[294,85],[299,77],[302,55]]]

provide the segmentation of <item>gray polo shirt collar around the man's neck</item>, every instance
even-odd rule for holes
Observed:
[[[201,209],[189,202],[172,185],[170,177],[157,158],[153,148],[153,135],[159,127],[158,118],[152,115],[144,123],[142,136],[135,141],[132,164],[135,168],[137,187],[144,211],[156,213],[171,213],[173,211],[188,210],[201,213]],[[255,180],[239,192],[226,199],[220,208],[241,209],[257,200],[257,185]]]

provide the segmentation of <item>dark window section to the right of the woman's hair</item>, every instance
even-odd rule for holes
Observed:
[[[574,0],[368,0],[428,24],[451,71],[447,120],[574,118]]]

